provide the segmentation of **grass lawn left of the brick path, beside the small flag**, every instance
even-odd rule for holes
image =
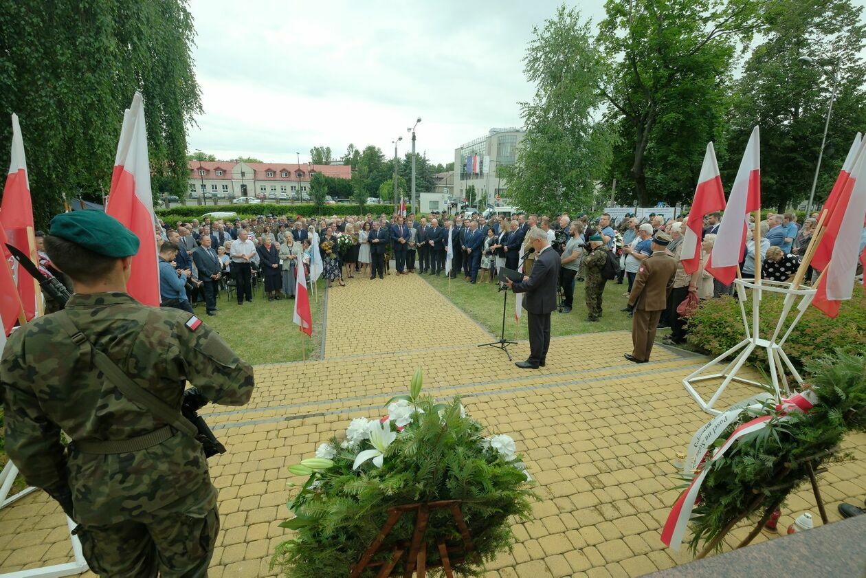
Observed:
[[[196,315],[215,329],[242,360],[254,366],[301,360],[301,346],[307,359],[315,359],[321,351],[326,283],[320,279],[318,285],[319,302],[310,293],[312,339],[307,334],[301,334],[292,321],[294,299],[269,302],[267,297],[262,297],[262,289],[254,289],[253,302],[244,302],[243,305],[237,304],[234,295],[229,297],[223,292],[216,300],[216,308],[219,309],[216,315],[204,315],[204,304],[195,308]]]

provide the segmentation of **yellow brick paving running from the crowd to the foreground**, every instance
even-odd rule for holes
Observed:
[[[425,392],[459,394],[490,432],[512,435],[539,482],[535,519],[515,525],[514,551],[488,565],[490,578],[637,576],[691,559],[664,549],[659,533],[678,496],[675,452],[709,418],[680,382],[704,358],[657,347],[650,363],[630,364],[630,337],[617,332],[554,338],[547,367],[519,372],[501,351],[475,347],[491,336],[415,276],[334,287],[326,321],[324,359],[256,367],[248,406],[209,409],[229,448],[210,460],[222,517],[210,575],[275,575],[270,554],[289,535],[278,527],[288,517],[286,482],[300,481],[285,466],[342,435],[350,419],[380,416],[417,366]],[[524,359],[528,344],[511,351]],[[753,393],[732,385],[722,401]],[[866,497],[866,436],[844,445],[855,459],[819,476],[831,520],[838,503]],[[808,488],[791,497],[780,525],[804,510],[819,523]],[[736,529],[728,548],[748,529]],[[59,508],[42,492],[0,510],[0,572],[70,556]]]

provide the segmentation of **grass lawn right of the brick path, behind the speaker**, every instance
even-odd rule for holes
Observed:
[[[430,283],[434,289],[448,297],[463,312],[478,321],[491,334],[499,335],[502,327],[502,294],[496,290],[496,283],[475,283],[472,285],[463,281],[463,277],[460,276],[451,281],[449,293],[448,278],[444,274],[438,277],[423,275],[422,278]],[[620,329],[630,331],[631,319],[627,313],[620,311],[628,302],[628,299],[623,296],[626,287],[627,285],[617,285],[615,281],[607,282],[604,286],[604,299],[602,300],[604,315],[602,315],[601,321],[593,322],[586,321],[584,283],[574,283],[572,312],[568,314],[553,312],[550,323],[551,335],[557,337]],[[514,296],[513,292],[508,292],[505,314],[506,339],[515,339]],[[525,318],[520,318],[520,328],[517,329],[516,339],[529,339]]]

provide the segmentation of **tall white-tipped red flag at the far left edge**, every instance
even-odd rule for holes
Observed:
[[[12,147],[9,173],[6,175],[6,185],[3,186],[3,205],[0,205],[0,226],[6,230],[9,244],[23,251],[31,258],[36,257],[36,238],[33,236],[33,203],[30,200],[30,183],[27,177],[27,159],[24,157],[24,140],[21,136],[21,126],[18,115],[12,115]],[[6,245],[3,244],[3,255],[10,257]],[[38,261],[34,261],[38,264]],[[24,306],[27,320],[36,316],[37,299],[42,295],[36,291],[36,280],[27,271],[20,270],[13,263],[13,276]],[[7,322],[3,318],[4,324]]]

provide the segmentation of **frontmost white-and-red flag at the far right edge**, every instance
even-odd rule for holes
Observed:
[[[854,293],[854,276],[860,257],[860,238],[866,219],[866,154],[859,154],[850,177],[826,220],[824,237],[835,239],[824,275],[815,288],[812,305],[835,318],[841,302]]]

